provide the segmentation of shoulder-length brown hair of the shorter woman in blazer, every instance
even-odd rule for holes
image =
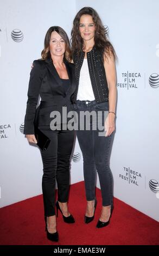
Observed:
[[[64,56],[68,62],[71,62],[72,54],[71,54],[71,46],[68,39],[68,35],[66,34],[63,28],[58,26],[50,27],[46,33],[46,36],[44,38],[44,49],[41,52],[42,59],[47,59],[51,57],[49,44],[50,44],[50,38],[51,38],[52,32],[54,31],[57,32],[59,35],[61,35],[61,38],[65,41],[66,50],[65,50]]]

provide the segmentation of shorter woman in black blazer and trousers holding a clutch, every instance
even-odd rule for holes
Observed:
[[[58,185],[56,210],[60,210],[66,223],[74,223],[68,211],[69,160],[74,142],[74,131],[66,129],[63,119],[52,124],[51,112],[62,114],[73,110],[75,92],[74,65],[70,63],[71,50],[66,32],[61,27],[50,27],[44,39],[42,59],[34,60],[30,73],[24,134],[29,143],[37,143],[34,127],[46,136],[50,143],[41,150],[43,162],[42,192],[47,238],[58,241],[55,216],[55,180]],[[39,95],[41,102],[36,108]],[[35,121],[36,120],[36,121]],[[65,128],[63,129],[63,125]],[[61,129],[62,127],[62,129]],[[41,134],[41,135],[40,135]],[[41,139],[41,137],[39,138]]]

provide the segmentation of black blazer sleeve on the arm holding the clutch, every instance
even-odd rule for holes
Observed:
[[[30,72],[28,101],[26,116],[24,119],[24,134],[34,134],[34,119],[36,113],[36,105],[39,99],[40,87],[42,83],[41,61],[34,60],[34,68]]]

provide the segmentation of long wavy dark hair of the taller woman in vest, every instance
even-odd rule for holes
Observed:
[[[103,48],[105,57],[113,55],[116,59],[116,52],[113,48],[111,42],[107,39],[107,31],[103,26],[103,23],[100,20],[100,17],[96,10],[91,7],[84,7],[74,18],[73,28],[71,31],[71,42],[72,42],[72,52],[76,51],[77,54],[80,54],[84,47],[84,40],[81,38],[79,31],[80,17],[84,14],[92,16],[93,22],[96,25],[96,31],[94,35],[94,46]]]

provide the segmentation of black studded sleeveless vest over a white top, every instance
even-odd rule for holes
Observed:
[[[84,61],[85,52],[79,55],[73,53],[73,62],[75,64],[75,79],[77,81],[77,89],[74,93],[74,103],[77,100],[77,93],[79,87],[79,77],[82,63]],[[97,103],[109,101],[109,89],[107,87],[104,63],[103,63],[103,49],[93,46],[90,52],[87,52],[88,69],[92,83],[94,97]]]

